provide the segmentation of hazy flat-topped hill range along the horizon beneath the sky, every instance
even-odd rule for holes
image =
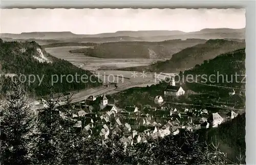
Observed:
[[[117,41],[164,41],[173,39],[245,39],[244,29],[203,29],[198,32],[182,31],[118,31],[93,35],[80,35],[71,32],[30,32],[21,34],[0,34],[5,39],[62,40],[64,42],[117,42]],[[121,39],[122,38],[122,39]]]

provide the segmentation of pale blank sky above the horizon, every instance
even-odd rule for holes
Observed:
[[[245,9],[0,9],[0,33],[245,28]]]

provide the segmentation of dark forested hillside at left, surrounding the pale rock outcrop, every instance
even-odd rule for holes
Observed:
[[[38,54],[37,49],[40,49],[44,54],[45,58],[47,58],[50,63],[47,62],[40,62],[35,59],[33,56],[37,58],[41,58],[40,54]],[[1,42],[0,43],[0,70],[3,73],[13,73],[13,74],[23,74],[28,79],[28,75],[35,75],[35,82],[29,84],[28,81],[25,82],[26,88],[28,91],[35,96],[46,95],[47,89],[45,84],[49,84],[51,81],[52,75],[55,78],[58,77],[59,81],[55,83],[54,91],[56,93],[59,92],[67,92],[67,91],[75,91],[75,90],[82,90],[90,87],[97,87],[100,85],[100,82],[97,81],[97,77],[94,76],[90,71],[82,70],[70,62],[65,60],[57,59],[47,53],[40,45],[36,42]],[[77,81],[72,81],[72,78],[68,79],[67,75],[75,75],[78,78],[81,78],[81,75],[87,75],[88,78],[91,78],[92,81],[88,81],[83,83],[81,79]],[[62,82],[60,81],[60,75],[66,75],[62,78]],[[40,84],[38,78],[42,78],[42,82]],[[54,78],[53,77],[53,78]],[[25,78],[23,76],[23,78]],[[8,79],[8,77],[7,77]],[[9,78],[10,80],[10,78]],[[23,79],[24,80],[24,79]],[[56,81],[57,79],[54,79]],[[6,81],[6,84],[9,82]],[[39,86],[40,84],[40,86]]]

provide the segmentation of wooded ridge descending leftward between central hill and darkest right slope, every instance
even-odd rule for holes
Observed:
[[[219,54],[244,48],[245,40],[211,39],[205,43],[185,48],[173,54],[172,59],[158,62],[149,66],[121,68],[119,70],[154,71],[154,72],[180,72],[202,64],[205,60],[214,59]]]

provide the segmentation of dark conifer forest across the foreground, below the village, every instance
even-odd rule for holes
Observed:
[[[52,95],[49,87],[49,97]],[[11,84],[1,99],[1,163],[2,164],[228,164],[229,159],[218,147],[200,140],[200,132],[181,131],[148,143],[123,145],[119,136],[108,140],[75,132],[71,120],[70,98],[61,109],[55,103],[40,113],[32,113],[22,86]],[[54,113],[56,112],[56,113]],[[239,122],[240,120],[233,120]],[[243,124],[240,124],[243,127]],[[220,126],[219,132],[233,124]],[[222,128],[223,127],[223,128]],[[239,129],[240,127],[238,127]],[[239,130],[238,130],[239,131]],[[227,136],[231,139],[234,131]],[[243,134],[241,134],[243,135]],[[223,136],[222,136],[223,137]],[[227,137],[226,137],[227,138]],[[241,139],[241,144],[244,143]],[[243,145],[243,144],[242,144]],[[241,146],[242,147],[242,146]],[[238,161],[239,162],[239,161]],[[241,163],[240,163],[241,164]]]

